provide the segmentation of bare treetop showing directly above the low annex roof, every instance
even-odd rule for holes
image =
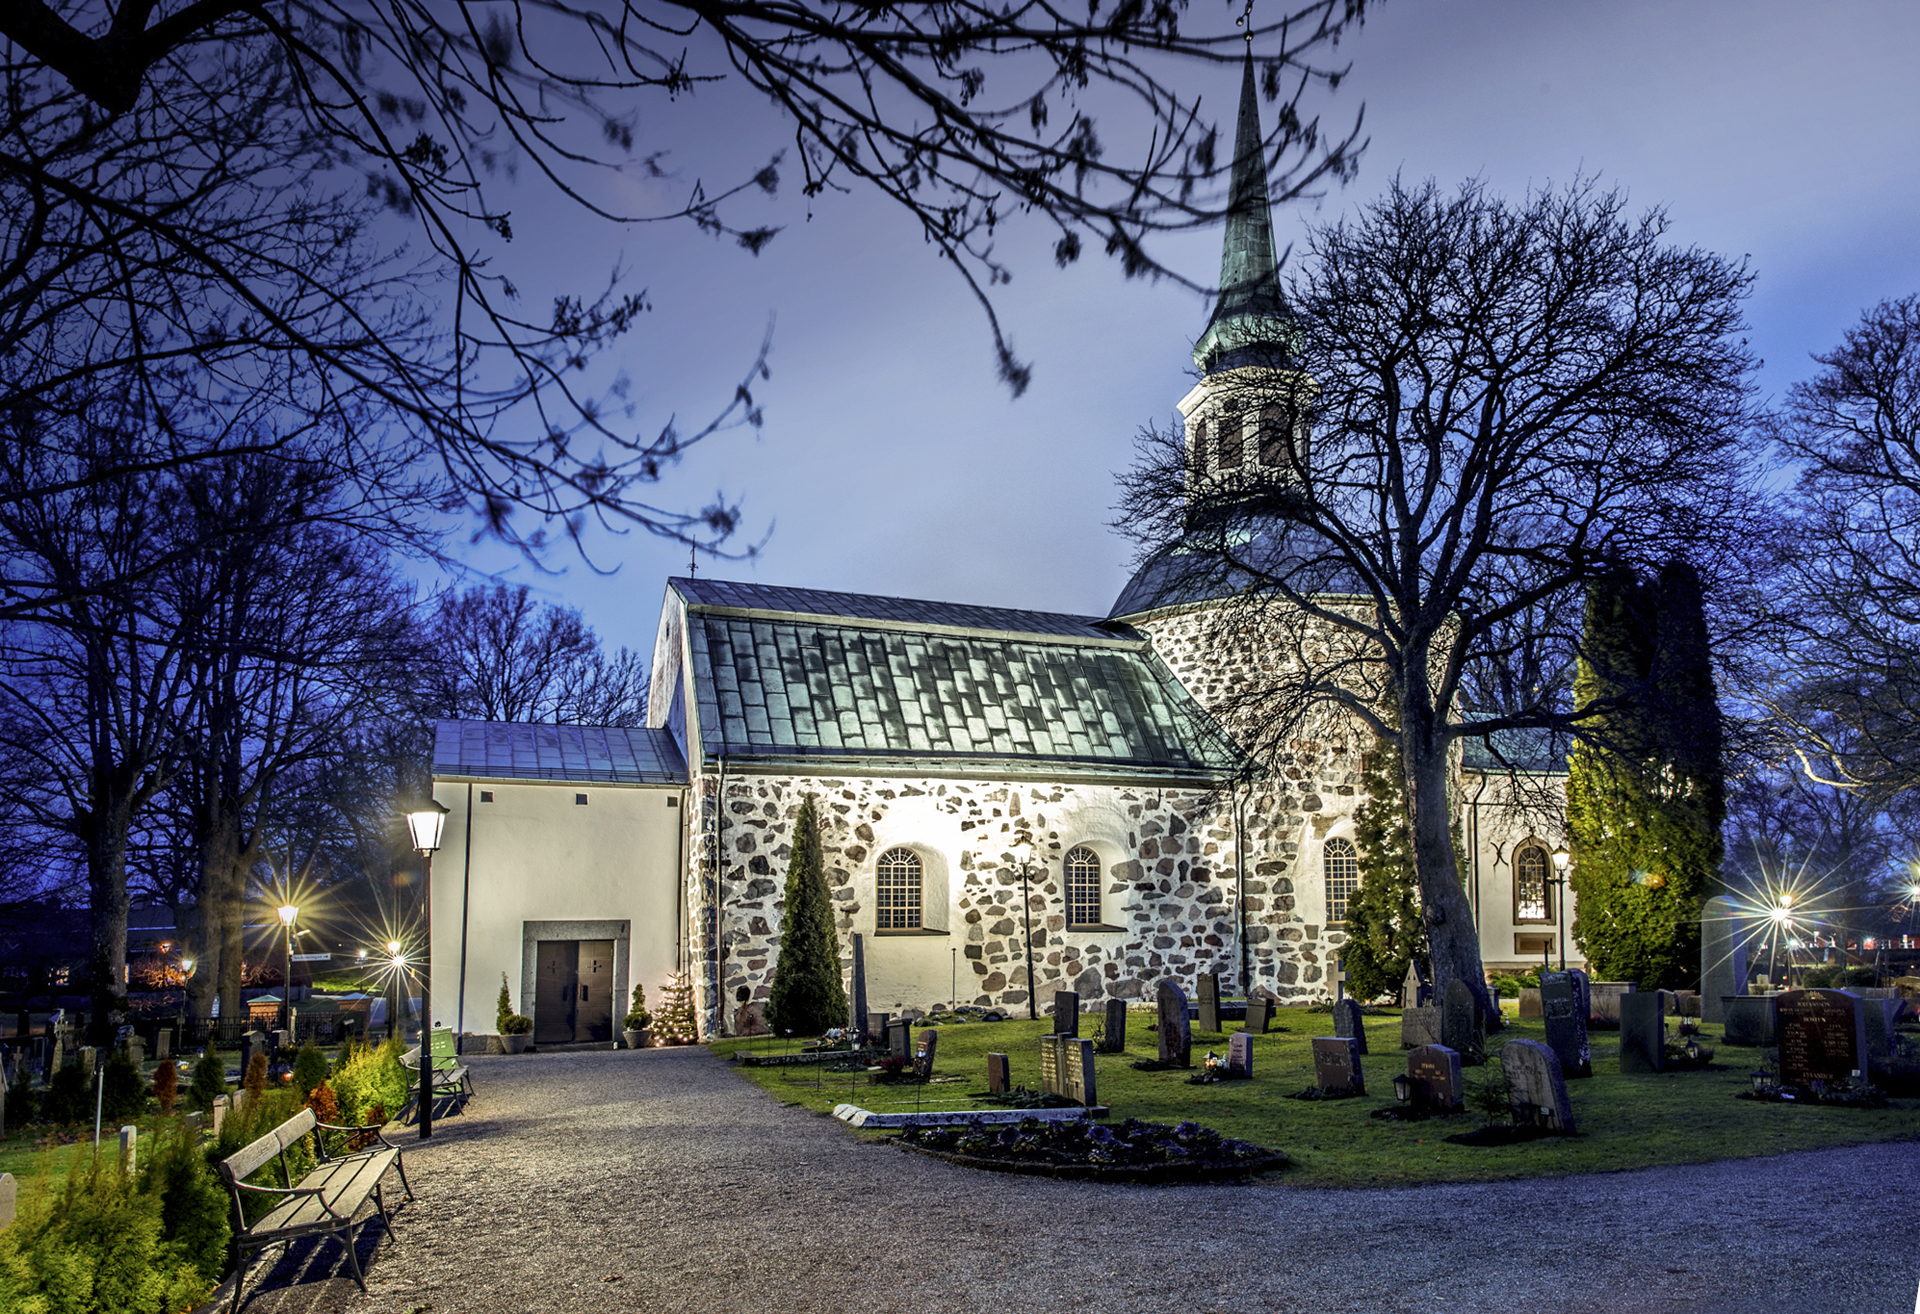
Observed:
[[[442,657],[432,690],[447,717],[637,726],[647,718],[647,663],[609,653],[572,607],[534,603],[526,586],[478,586],[440,609]]]

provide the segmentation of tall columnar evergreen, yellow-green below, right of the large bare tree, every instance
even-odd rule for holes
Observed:
[[[1699,972],[1699,907],[1718,888],[1726,788],[1699,576],[1592,586],[1569,759],[1574,941],[1596,976],[1680,987]]]

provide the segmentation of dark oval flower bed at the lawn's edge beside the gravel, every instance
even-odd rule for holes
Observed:
[[[1139,1118],[1117,1128],[1033,1118],[1006,1128],[908,1126],[893,1143],[962,1168],[1081,1181],[1227,1181],[1288,1162],[1279,1151],[1223,1137],[1196,1122],[1167,1126]]]

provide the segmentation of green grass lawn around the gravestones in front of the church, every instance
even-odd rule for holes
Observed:
[[[1515,1178],[1557,1178],[1574,1172],[1613,1172],[1657,1164],[1699,1164],[1720,1158],[1751,1158],[1788,1151],[1830,1149],[1872,1141],[1920,1139],[1920,1101],[1895,1099],[1887,1108],[1822,1108],[1768,1105],[1736,1099],[1749,1089],[1749,1074],[1761,1051],[1720,1043],[1720,1028],[1705,1026],[1701,1043],[1715,1047],[1722,1070],[1620,1076],[1619,1034],[1594,1032],[1594,1076],[1569,1082],[1578,1135],[1549,1137],[1521,1145],[1450,1145],[1448,1135],[1482,1126],[1473,1110],[1471,1091],[1486,1068],[1465,1068],[1469,1112],[1427,1122],[1382,1122],[1369,1118],[1375,1108],[1394,1105],[1394,1074],[1405,1072],[1400,1049],[1400,1016],[1367,1018],[1367,1045],[1361,1058],[1367,1095],[1338,1101],[1296,1101],[1288,1095],[1313,1083],[1311,1037],[1332,1032],[1325,1012],[1281,1009],[1275,1020],[1284,1034],[1254,1037],[1254,1078],[1217,1085],[1188,1085],[1188,1072],[1137,1072],[1137,1058],[1156,1057],[1150,1014],[1135,1012],[1127,1026],[1125,1055],[1098,1055],[1098,1095],[1112,1105],[1112,1118],[1146,1122],[1192,1120],[1223,1135],[1240,1137],[1286,1153],[1292,1166],[1279,1178],[1300,1187],[1369,1187],[1425,1181],[1496,1181]],[[1092,1016],[1081,1020],[1081,1035],[1091,1035]],[[1229,1034],[1238,1024],[1227,1024]],[[835,1105],[854,1103],[876,1112],[910,1112],[916,1095],[927,1108],[989,1107],[970,1095],[987,1089],[987,1055],[1004,1053],[1014,1085],[1039,1089],[1039,1035],[1048,1022],[968,1022],[939,1028],[935,1082],[925,1087],[874,1085],[862,1076],[804,1068],[735,1068],[776,1099],[829,1114]],[[1492,1037],[1498,1053],[1507,1039],[1546,1039],[1538,1018],[1507,1018],[1507,1030]],[[726,1058],[733,1053],[785,1049],[783,1043],[728,1039],[710,1045]],[[1206,1051],[1225,1055],[1221,1034],[1194,1032],[1194,1066]],[[1492,1066],[1492,1064],[1490,1064]],[[964,1078],[941,1082],[939,1078]],[[849,1135],[881,1139],[885,1133]]]

